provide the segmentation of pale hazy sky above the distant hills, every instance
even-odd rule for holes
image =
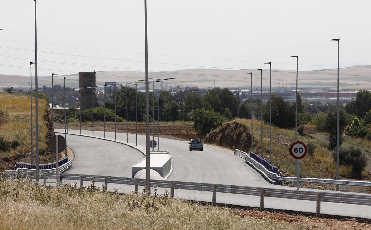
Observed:
[[[299,70],[336,68],[337,44],[329,41],[335,38],[341,38],[340,66],[371,64],[371,1],[147,4],[149,61],[157,62],[150,71],[268,68],[264,62],[293,70],[292,55],[299,55]],[[35,59],[33,7],[33,0],[1,1],[0,74],[29,75]],[[144,70],[143,0],[37,0],[37,34],[39,75]]]

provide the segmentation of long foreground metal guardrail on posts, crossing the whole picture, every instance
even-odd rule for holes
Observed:
[[[15,171],[6,171],[7,177],[30,177],[35,175],[33,172],[19,173]],[[46,179],[56,178],[56,174],[40,174],[40,178]],[[129,177],[109,177],[99,175],[83,175],[83,174],[60,174],[60,181],[65,180],[79,180],[80,186],[83,186],[83,181],[92,181],[104,183],[104,188],[107,190],[108,183],[112,184],[126,184],[134,185],[134,190],[138,192],[138,186],[145,186],[145,179],[136,179]],[[275,188],[260,188],[248,187],[239,185],[225,185],[225,184],[209,184],[209,183],[193,183],[184,181],[164,181],[164,180],[151,180],[151,186],[160,188],[169,188],[170,197],[174,197],[174,189],[192,190],[192,191],[207,191],[212,192],[212,204],[216,205],[216,193],[231,193],[242,195],[256,195],[260,196],[260,210],[264,209],[265,197],[276,197],[295,200],[316,201],[316,216],[321,214],[321,202],[343,203],[343,204],[358,204],[358,205],[371,205],[371,195],[360,194],[345,194],[345,193],[322,193],[316,191],[296,191]]]

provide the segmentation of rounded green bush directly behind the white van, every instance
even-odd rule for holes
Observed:
[[[228,119],[219,112],[196,109],[190,117],[197,135],[206,135],[211,130],[223,125]]]

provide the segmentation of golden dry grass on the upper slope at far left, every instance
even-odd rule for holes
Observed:
[[[33,98],[33,138],[35,145],[35,98]],[[40,148],[46,148],[46,135],[49,131],[46,126],[46,121],[43,119],[46,113],[46,100],[39,100],[39,136]],[[16,95],[9,93],[0,93],[0,111],[4,112],[6,122],[0,125],[0,135],[7,141],[17,140],[28,148],[26,152],[31,151],[31,113],[30,113],[30,98],[24,95]],[[9,155],[9,153],[0,152],[0,155]]]

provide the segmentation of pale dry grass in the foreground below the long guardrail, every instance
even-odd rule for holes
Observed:
[[[0,229],[303,229],[240,217],[167,195],[102,191],[95,186],[42,187],[0,178]]]

